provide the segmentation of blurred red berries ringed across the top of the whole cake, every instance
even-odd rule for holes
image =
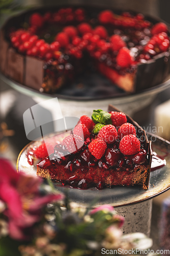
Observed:
[[[151,29],[153,37],[144,46],[139,59],[135,60],[133,54],[127,47],[126,41],[120,35],[108,35],[106,28],[102,25],[112,24],[120,28],[132,28],[141,30],[150,28],[151,24],[144,20],[142,14],[131,16],[130,13],[114,15],[112,11],[105,10],[99,14],[101,25],[94,28],[85,22],[84,9],[62,8],[55,13],[46,12],[44,15],[33,13],[30,16],[28,30],[18,29],[11,32],[11,44],[21,54],[34,56],[45,61],[62,60],[63,54],[73,56],[77,59],[83,57],[87,51],[91,57],[102,60],[104,54],[113,56],[116,65],[120,68],[130,68],[140,59],[167,51],[169,48],[168,28],[164,23],[158,23]],[[59,32],[51,44],[47,44],[36,35],[45,24],[65,24],[77,22],[77,26],[65,26]],[[113,61],[113,62],[114,62]]]

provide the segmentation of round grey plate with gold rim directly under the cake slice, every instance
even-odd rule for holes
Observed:
[[[54,134],[51,136],[54,137]],[[46,139],[49,137],[46,136]],[[152,134],[148,134],[148,138],[152,140],[153,151],[166,160],[165,166],[151,172],[148,190],[142,190],[138,186],[114,186],[102,190],[97,190],[96,188],[83,190],[62,186],[60,183],[54,182],[55,187],[59,191],[67,193],[71,201],[78,203],[82,207],[87,207],[92,201],[96,202],[96,206],[102,204],[111,204],[114,207],[127,206],[160,195],[170,188],[170,142]],[[33,166],[29,165],[26,153],[30,146],[37,145],[37,143],[39,141],[29,143],[20,152],[17,159],[18,172],[22,171],[28,175],[36,176],[36,163]],[[44,180],[44,182],[46,181]]]

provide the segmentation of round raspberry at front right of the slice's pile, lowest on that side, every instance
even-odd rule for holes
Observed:
[[[126,135],[120,140],[119,148],[126,156],[137,154],[140,151],[140,140],[134,135]]]

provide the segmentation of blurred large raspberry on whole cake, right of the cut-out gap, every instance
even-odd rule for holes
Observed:
[[[126,47],[121,48],[116,57],[117,65],[122,68],[129,68],[132,64],[132,56],[130,50]]]

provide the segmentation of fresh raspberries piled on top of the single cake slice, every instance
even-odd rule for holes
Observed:
[[[91,142],[89,140],[89,152],[99,160],[108,146],[117,141],[122,154],[126,156],[137,154],[140,151],[140,140],[136,137],[133,124],[127,122],[126,115],[122,112],[112,111],[111,120],[113,124],[104,125],[98,135],[91,139]],[[70,153],[77,153],[84,144],[83,138],[86,140],[90,137],[93,125],[93,121],[88,116],[82,116],[73,134],[65,137],[62,142],[66,150]]]

